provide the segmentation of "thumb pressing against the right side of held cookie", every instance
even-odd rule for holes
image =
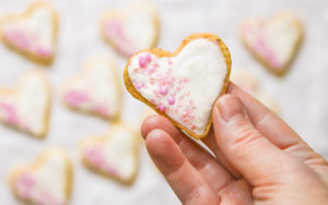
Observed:
[[[254,128],[244,105],[234,95],[226,94],[216,100],[212,118],[220,149],[253,185],[277,181],[297,164]]]

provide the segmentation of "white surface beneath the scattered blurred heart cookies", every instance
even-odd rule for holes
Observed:
[[[30,0],[0,0],[0,15],[22,12]],[[0,86],[13,86],[24,72],[39,69],[52,85],[52,114],[47,138],[37,141],[0,126],[0,204],[20,204],[8,189],[8,173],[16,165],[33,161],[47,146],[66,148],[74,164],[71,204],[179,204],[141,145],[140,170],[132,186],[122,186],[85,170],[79,160],[78,143],[90,134],[102,134],[108,122],[67,110],[58,98],[59,84],[81,70],[95,55],[114,58],[122,71],[126,59],[116,56],[98,34],[98,17],[110,8],[133,1],[57,0],[50,3],[60,17],[58,55],[50,68],[39,68],[0,45]],[[200,32],[218,34],[226,43],[233,70],[256,73],[261,89],[279,104],[281,117],[318,153],[328,157],[328,2],[326,0],[153,0],[161,15],[159,47],[173,51],[184,37]],[[306,35],[290,72],[283,79],[268,73],[244,49],[237,36],[238,23],[253,15],[271,16],[291,10],[304,22]],[[125,92],[122,119],[137,126],[145,107]]]

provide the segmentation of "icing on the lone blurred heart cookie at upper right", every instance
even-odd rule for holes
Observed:
[[[250,47],[261,44],[266,49],[257,50],[273,68],[283,68],[292,58],[293,51],[302,36],[298,21],[289,14],[281,14],[272,21],[249,20],[244,23],[244,38]],[[261,41],[261,43],[259,43]],[[274,59],[268,57],[271,52]],[[277,61],[277,62],[274,62]]]

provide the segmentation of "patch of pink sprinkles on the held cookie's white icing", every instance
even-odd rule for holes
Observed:
[[[195,124],[195,105],[190,99],[190,91],[186,91],[186,84],[190,83],[189,79],[174,76],[171,59],[163,62],[167,67],[167,70],[161,70],[161,64],[156,62],[156,59],[151,59],[149,53],[139,55],[133,59],[134,63],[130,67],[133,72],[145,76],[145,81],[133,81],[134,87],[142,93],[142,87],[148,87],[147,92],[153,94],[153,97],[149,99],[157,110],[171,114],[174,112],[179,121],[184,122],[187,128],[194,130],[197,128]],[[136,70],[137,69],[137,70]],[[161,71],[161,72],[160,72]],[[149,79],[148,79],[148,77]]]

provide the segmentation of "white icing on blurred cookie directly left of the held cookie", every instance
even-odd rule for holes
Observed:
[[[69,105],[67,100],[69,92],[82,92],[87,96],[87,100],[72,107],[84,111],[94,111],[94,108],[98,106],[106,110],[103,113],[105,117],[116,114],[120,104],[119,80],[116,69],[116,65],[110,61],[98,58],[81,76],[74,77],[65,86],[66,102]]]

